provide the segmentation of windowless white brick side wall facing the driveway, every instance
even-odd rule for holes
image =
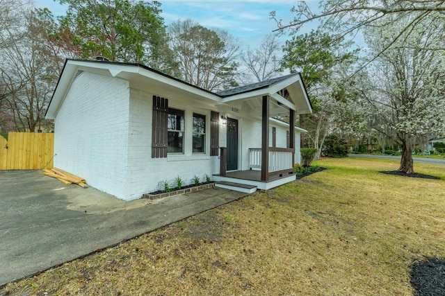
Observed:
[[[55,119],[54,166],[127,198],[128,82],[83,72]]]

